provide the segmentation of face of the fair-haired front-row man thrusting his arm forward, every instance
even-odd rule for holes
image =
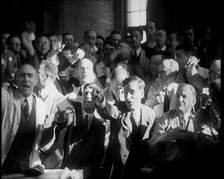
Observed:
[[[125,103],[130,111],[135,111],[141,105],[144,96],[144,90],[140,90],[138,83],[132,81],[124,87]]]

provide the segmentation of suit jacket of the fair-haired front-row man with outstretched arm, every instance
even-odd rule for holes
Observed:
[[[110,143],[106,153],[104,167],[106,177],[111,172],[113,165],[111,178],[120,178],[125,164],[129,161],[130,154],[133,153],[131,154],[132,156],[138,156],[136,151],[141,148],[141,143],[144,139],[150,137],[150,130],[155,120],[155,112],[150,107],[142,104],[140,124],[133,131],[130,112],[125,103],[118,102],[115,105],[111,109],[107,107],[107,112],[114,119],[111,119]],[[136,161],[136,158],[131,159],[131,165],[135,165]]]

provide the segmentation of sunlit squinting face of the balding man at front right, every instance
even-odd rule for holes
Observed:
[[[189,86],[184,86],[181,89],[178,89],[176,99],[176,108],[183,114],[191,112],[191,109],[196,102]]]

